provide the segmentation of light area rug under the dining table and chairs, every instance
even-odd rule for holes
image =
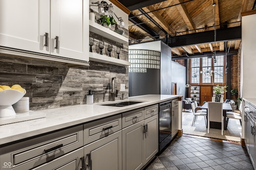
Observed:
[[[239,120],[229,119],[227,130],[224,130],[223,135],[221,135],[220,129],[210,128],[209,133],[207,133],[204,116],[198,116],[196,122],[192,126],[193,119],[194,115],[192,111],[186,110],[182,112],[182,129],[184,134],[222,139],[232,142],[240,142],[241,140],[242,127]]]

